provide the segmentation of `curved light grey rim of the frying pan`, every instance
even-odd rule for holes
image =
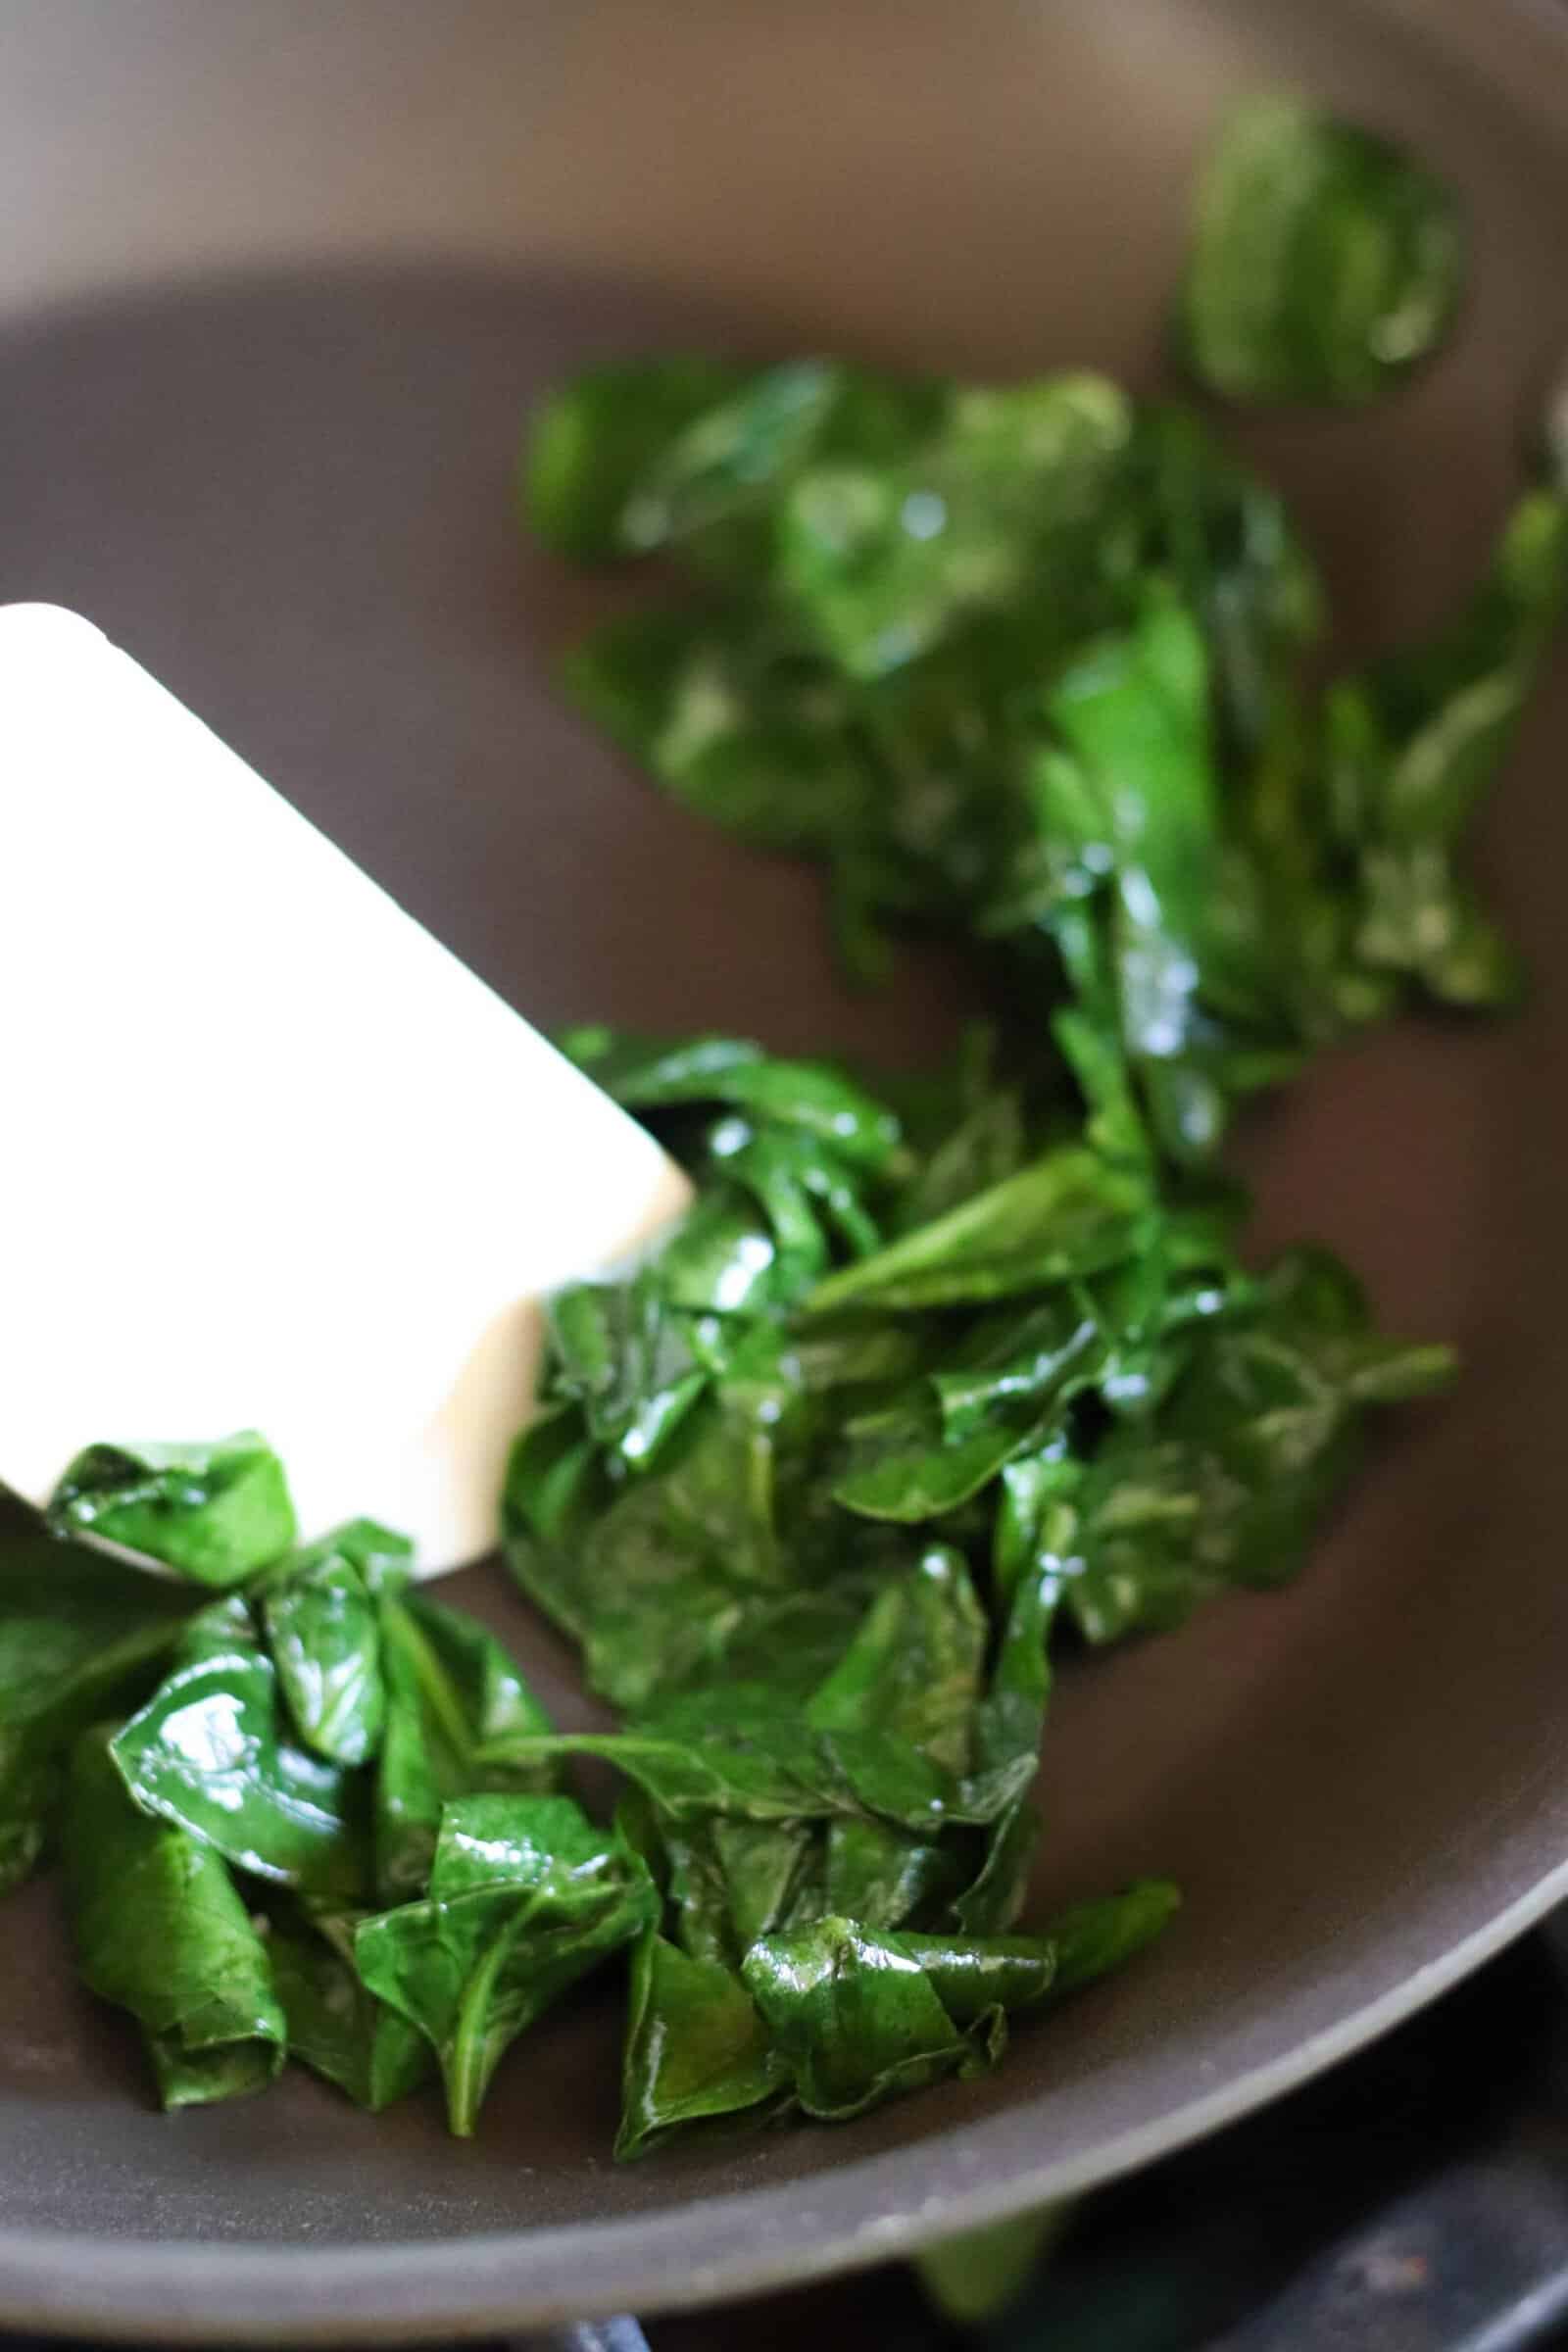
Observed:
[[[1561,0],[1359,0],[1359,9],[1561,132],[1552,73],[1568,66]],[[209,2239],[125,2241],[0,2225],[0,2326],[179,2345],[473,2340],[614,2310],[668,2312],[886,2260],[1171,2154],[1399,2025],[1568,1900],[1568,1858],[1469,1936],[1291,2051],[1081,2147],[1037,2154],[1034,2103],[957,2126],[973,2180],[931,2194],[929,2140],[835,2164],[830,2227],[813,2180],[733,2190],[625,2220],[482,2232],[400,2246]],[[703,2246],[701,2263],[691,2246]],[[585,2281],[592,2281],[585,2288]]]

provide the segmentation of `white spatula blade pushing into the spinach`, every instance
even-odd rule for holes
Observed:
[[[0,1479],[256,1428],[301,1534],[496,1538],[541,1298],[658,1145],[92,623],[0,609]]]

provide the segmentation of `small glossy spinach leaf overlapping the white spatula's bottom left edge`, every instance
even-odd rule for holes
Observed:
[[[256,1430],[216,1444],[87,1446],[49,1496],[61,1534],[103,1536],[197,1585],[237,1585],[294,1543],[282,1463]]]

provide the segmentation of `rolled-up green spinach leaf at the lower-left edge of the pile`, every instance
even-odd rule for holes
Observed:
[[[221,1856],[132,1804],[110,1726],[78,1740],[63,1853],[78,1969],[141,2025],[162,2105],[273,2082],[287,2027],[266,1945]]]

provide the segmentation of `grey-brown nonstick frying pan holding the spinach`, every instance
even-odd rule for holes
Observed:
[[[1246,435],[1371,644],[1474,572],[1568,350],[1568,28],[1528,7],[0,0],[0,600],[92,614],[543,1023],[907,1061],[964,988],[849,997],[813,880],[552,699],[602,590],[517,543],[508,466],[562,369],[719,339],[1150,383],[1197,143],[1302,82],[1474,216],[1439,372]],[[618,2171],[614,1999],[541,2027],[468,2145],[303,2074],[165,2119],[38,1886],[0,1912],[0,2324],[414,2340],[872,2260],[1272,2096],[1568,1889],[1563,743],[1559,680],[1486,840],[1523,1016],[1375,1040],[1246,1138],[1269,1237],[1333,1240],[1465,1383],[1291,1592],[1065,1677],[1041,1898],[1168,1870],[1159,1952],[990,2082]],[[451,1597],[581,1710],[498,1576]]]

